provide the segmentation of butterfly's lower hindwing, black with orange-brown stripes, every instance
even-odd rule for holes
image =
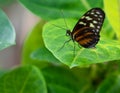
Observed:
[[[84,27],[74,33],[74,40],[85,48],[92,48],[99,41],[99,34],[92,27]]]

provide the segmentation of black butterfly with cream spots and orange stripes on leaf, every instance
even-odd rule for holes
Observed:
[[[66,35],[71,37],[70,40],[78,42],[84,48],[94,48],[99,41],[104,19],[105,13],[102,9],[92,8],[79,19],[72,32],[66,31]]]

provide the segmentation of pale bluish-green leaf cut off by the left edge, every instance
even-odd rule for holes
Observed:
[[[0,50],[15,44],[15,31],[5,13],[0,9]]]

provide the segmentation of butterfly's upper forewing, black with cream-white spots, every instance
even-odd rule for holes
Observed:
[[[93,27],[96,29],[96,32],[99,32],[102,27],[104,18],[105,13],[102,9],[92,8],[79,19],[72,33],[83,27]]]

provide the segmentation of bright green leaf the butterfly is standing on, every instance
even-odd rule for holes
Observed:
[[[72,29],[76,24],[76,20],[72,19],[66,20],[66,22],[70,29]],[[120,59],[120,43],[114,40],[104,39],[102,36],[95,49],[80,48],[76,45],[76,49],[74,51],[73,42],[66,43],[66,45],[60,49],[64,42],[70,38],[65,36],[66,31],[64,29],[55,27],[52,24],[63,28],[66,28],[66,26],[64,21],[59,19],[47,23],[43,29],[43,40],[46,48],[50,50],[62,63],[70,67],[74,67]]]

